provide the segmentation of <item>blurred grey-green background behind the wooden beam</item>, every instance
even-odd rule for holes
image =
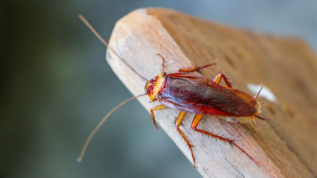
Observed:
[[[141,7],[301,37],[317,51],[313,0],[1,2],[0,177],[200,177],[137,100],[108,118],[76,162],[100,119],[132,96],[77,15],[107,41],[115,22]]]

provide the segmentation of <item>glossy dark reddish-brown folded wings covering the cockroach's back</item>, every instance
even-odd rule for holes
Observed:
[[[166,75],[159,102],[175,110],[219,117],[248,117],[258,111],[256,100],[247,93],[188,73]]]

